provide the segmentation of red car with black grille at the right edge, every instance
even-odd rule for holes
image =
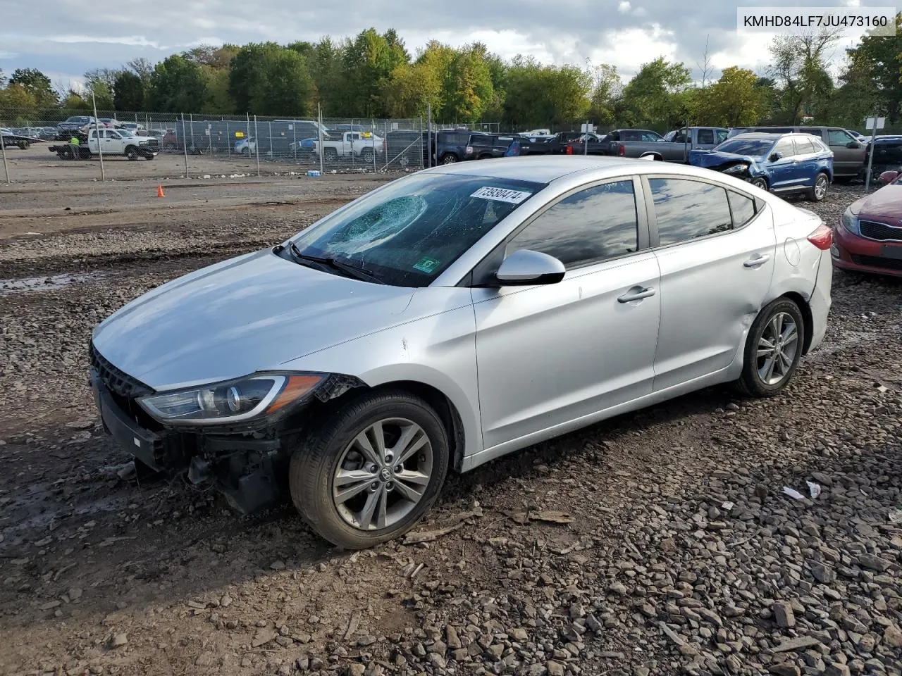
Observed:
[[[902,277],[902,174],[884,171],[888,185],[852,202],[833,232],[837,268]]]

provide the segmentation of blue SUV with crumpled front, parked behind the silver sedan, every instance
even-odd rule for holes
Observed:
[[[812,202],[824,199],[833,181],[833,151],[809,133],[741,133],[712,151],[690,151],[689,164]]]

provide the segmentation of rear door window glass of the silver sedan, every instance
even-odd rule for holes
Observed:
[[[661,246],[732,230],[727,191],[686,178],[650,178]]]

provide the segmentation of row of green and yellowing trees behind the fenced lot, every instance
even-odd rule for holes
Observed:
[[[498,122],[505,128],[601,127],[670,129],[686,122],[718,126],[832,123],[861,127],[877,112],[889,125],[902,116],[902,13],[897,35],[866,36],[846,50],[838,77],[836,32],[779,36],[770,63],[755,73],[723,69],[702,81],[684,63],[650,60],[624,83],[608,64],[552,65],[532,57],[504,60],[474,42],[438,41],[411,55],[393,30],[370,28],[354,38],[201,46],[153,64],[133,59],[92,69],[85,87],[53,87],[37,69],[0,71],[0,110],[48,109],[185,114],[412,118],[447,123]]]

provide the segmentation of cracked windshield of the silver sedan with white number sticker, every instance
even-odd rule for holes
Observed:
[[[300,233],[302,254],[422,287],[546,184],[426,174],[401,178]]]

